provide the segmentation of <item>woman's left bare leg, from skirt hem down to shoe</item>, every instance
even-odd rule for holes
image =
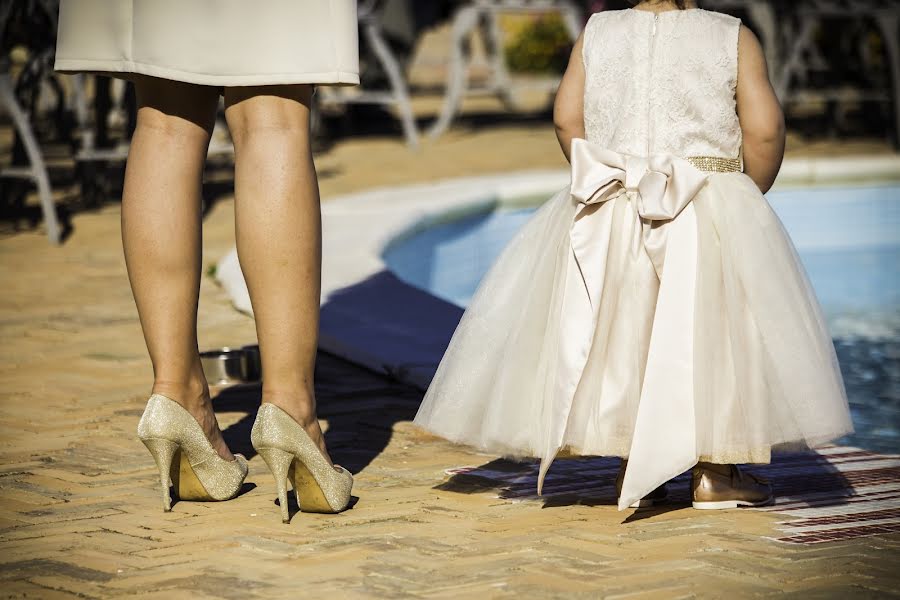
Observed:
[[[153,392],[184,406],[233,458],[216,422],[197,349],[201,196],[217,88],[135,81],[137,129],[122,194],[128,278],[153,362]]]

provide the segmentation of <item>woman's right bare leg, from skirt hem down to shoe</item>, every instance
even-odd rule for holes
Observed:
[[[322,239],[308,85],[227,88],[237,250],[253,303],[263,402],[287,412],[328,458],[316,419]],[[330,458],[329,458],[330,460]]]

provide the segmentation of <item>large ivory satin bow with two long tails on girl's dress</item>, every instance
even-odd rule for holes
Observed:
[[[691,201],[707,176],[672,155],[619,154],[572,140],[571,195],[580,204],[570,229],[561,317],[559,373],[546,405],[547,436],[538,476],[563,445],[572,402],[590,354],[606,279],[613,223],[603,204],[629,194],[641,239],[660,280],[641,400],[619,508],[625,508],[696,461],[693,411],[693,304],[697,223]],[[665,267],[665,270],[664,268]],[[591,327],[587,327],[587,324]],[[666,427],[660,428],[664,423]]]

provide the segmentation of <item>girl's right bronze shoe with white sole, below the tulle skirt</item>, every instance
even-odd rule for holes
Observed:
[[[737,465],[697,463],[691,471],[693,506],[701,510],[763,506],[774,499],[765,479],[743,473]]]

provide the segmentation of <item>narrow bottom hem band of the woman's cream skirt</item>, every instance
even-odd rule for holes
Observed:
[[[196,85],[241,87],[255,85],[359,85],[359,73],[352,71],[321,71],[316,73],[252,73],[245,75],[195,73],[129,60],[57,59],[56,71],[63,73],[102,73],[127,79],[128,75],[147,75]]]

